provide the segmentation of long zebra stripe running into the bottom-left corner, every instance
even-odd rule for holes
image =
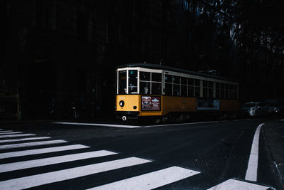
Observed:
[[[130,157],[126,159],[117,159],[109,162],[102,162],[99,164],[91,164],[83,167],[75,167],[71,169],[63,169],[60,171],[52,171],[45,174],[37,174],[33,176],[24,176],[16,179],[9,179],[0,181],[1,189],[27,189],[34,186],[50,184],[58,181],[65,181],[67,179],[74,179],[80,176],[87,176],[91,174],[98,174],[104,171],[119,169],[124,167],[131,167],[138,164],[145,164],[151,162],[147,159],[140,159]]]

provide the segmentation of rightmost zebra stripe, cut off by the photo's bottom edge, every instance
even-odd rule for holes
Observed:
[[[239,181],[236,179],[229,179],[227,181],[224,181],[222,184],[218,184],[217,186],[213,186],[210,189],[207,190],[228,190],[228,189],[234,189],[234,190],[243,190],[243,189],[257,189],[257,190],[265,190],[269,189],[268,186],[261,186],[258,184],[251,184],[246,181]]]

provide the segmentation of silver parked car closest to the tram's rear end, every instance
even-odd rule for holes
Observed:
[[[268,114],[268,106],[265,102],[246,102],[241,106],[241,113],[250,115],[251,117],[258,117]]]

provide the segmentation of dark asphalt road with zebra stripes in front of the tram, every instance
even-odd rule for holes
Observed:
[[[256,128],[266,122],[0,125],[0,187],[280,189],[262,133],[256,180],[246,179]]]

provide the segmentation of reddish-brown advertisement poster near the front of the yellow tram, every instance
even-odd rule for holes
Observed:
[[[141,99],[143,111],[160,111],[160,96],[142,96]]]

